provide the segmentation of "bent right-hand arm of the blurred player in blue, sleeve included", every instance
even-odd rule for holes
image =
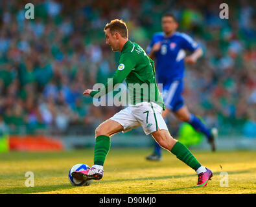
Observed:
[[[202,47],[196,43],[190,36],[183,34],[183,49],[187,49],[192,52],[189,56],[185,58],[186,63],[194,64],[198,58],[202,57],[204,54]]]

